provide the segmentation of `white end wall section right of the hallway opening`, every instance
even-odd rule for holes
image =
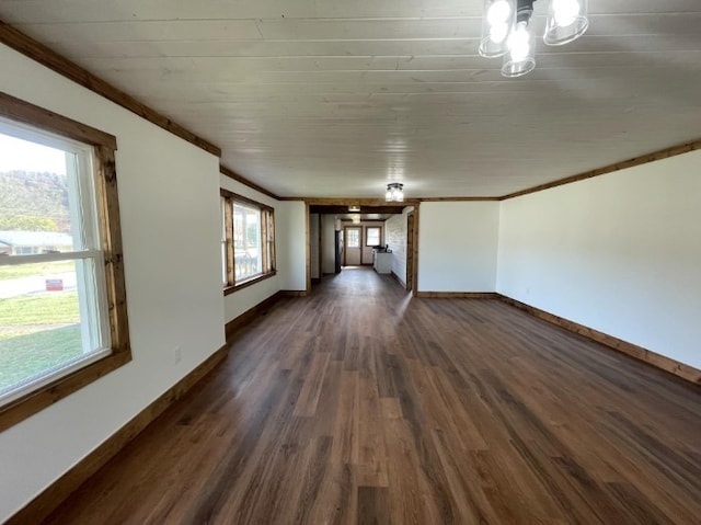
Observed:
[[[496,289],[498,202],[422,203],[418,292]]]

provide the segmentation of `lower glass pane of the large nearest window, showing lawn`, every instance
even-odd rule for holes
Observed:
[[[78,288],[74,261],[0,266],[0,395],[92,352]]]

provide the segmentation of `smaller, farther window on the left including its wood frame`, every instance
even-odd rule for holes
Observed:
[[[275,274],[273,208],[221,190],[221,262],[226,292]]]

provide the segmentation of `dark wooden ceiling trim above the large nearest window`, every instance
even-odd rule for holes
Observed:
[[[0,42],[20,52],[32,60],[46,66],[47,68],[62,75],[69,80],[87,88],[101,96],[120,105],[125,110],[136,113],[141,118],[146,118],[152,124],[162,127],[166,132],[187,140],[188,142],[204,149],[205,151],[221,157],[221,149],[198,137],[194,133],[185,129],[180,124],[174,123],[166,116],[151,110],[146,104],[139,102],[134,96],[113,87],[105,80],[81,68],[77,64],[68,60],[44,44],[15,30],[11,25],[0,21]]]

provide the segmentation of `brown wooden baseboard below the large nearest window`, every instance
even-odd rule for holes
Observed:
[[[91,476],[110,461],[156,418],[215,369],[227,357],[227,353],[228,346],[225,345],[207,357],[199,366],[169,388],[156,401],[141,410],[127,424],[81,459],[78,465],[14,514],[7,522],[8,525],[42,523],[58,505],[88,481]]]

